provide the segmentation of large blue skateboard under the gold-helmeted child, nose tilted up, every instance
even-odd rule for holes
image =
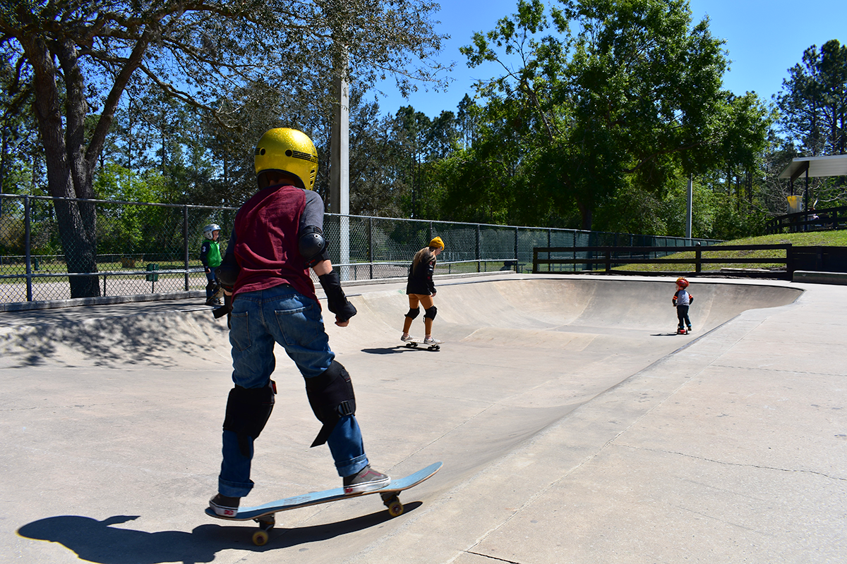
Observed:
[[[388,487],[382,490],[345,494],[344,488],[335,488],[333,490],[313,491],[304,496],[286,497],[285,499],[271,501],[261,506],[241,507],[235,513],[235,517],[222,517],[213,512],[211,507],[206,508],[206,514],[210,517],[224,519],[224,521],[253,520],[259,523],[259,530],[253,533],[252,540],[254,545],[262,546],[268,542],[268,531],[274,528],[274,524],[276,523],[274,515],[281,511],[288,511],[289,509],[314,506],[320,503],[329,503],[330,501],[340,501],[351,497],[368,496],[368,494],[379,494],[382,497],[385,507],[388,507],[388,514],[391,517],[398,517],[403,513],[403,504],[397,495],[401,491],[408,490],[428,479],[438,472],[440,468],[441,463],[430,464],[428,467],[418,470],[414,474],[409,474],[406,478],[392,479]]]

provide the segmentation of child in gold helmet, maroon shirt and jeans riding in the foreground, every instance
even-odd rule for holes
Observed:
[[[324,202],[313,192],[318,151],[296,129],[265,133],[255,151],[258,192],[241,206],[219,267],[228,290],[232,380],[224,418],[218,495],[210,509],[233,517],[252,490],[253,442],[268,422],[276,389],[274,344],[279,343],[306,380],[315,416],[324,424],[312,446],[327,443],[346,494],[385,488],[390,478],[370,468],[354,413],[350,375],[329,349],[312,268],[335,314],[347,326],[356,308],[333,271],[324,239]]]

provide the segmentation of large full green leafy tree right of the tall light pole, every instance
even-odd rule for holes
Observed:
[[[601,224],[612,225],[619,205],[643,211],[624,224],[667,229],[656,205],[678,178],[755,161],[767,108],[755,95],[721,90],[722,41],[708,20],[691,25],[687,2],[561,4],[548,16],[540,0],[520,0],[516,14],[462,48],[469,66],[499,63],[506,72],[478,85],[487,101],[478,140],[452,167],[457,182],[442,178],[448,190],[483,187],[510,216],[509,195],[521,190],[518,206],[534,201],[534,225],[575,207],[579,227],[590,229],[606,205]]]

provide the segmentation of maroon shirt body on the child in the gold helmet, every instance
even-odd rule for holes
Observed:
[[[307,203],[312,208],[308,212]],[[235,229],[227,249],[227,253],[235,252],[235,260],[241,266],[234,296],[289,284],[307,298],[318,300],[312,277],[305,266],[306,260],[300,254],[297,237],[304,213],[318,215],[315,213],[318,203],[320,223],[323,224],[323,200],[318,194],[307,194],[294,186],[271,186],[259,190],[241,206],[235,216]]]

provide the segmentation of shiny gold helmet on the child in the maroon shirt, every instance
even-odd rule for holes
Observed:
[[[263,172],[288,172],[300,180],[299,188],[314,189],[318,176],[318,150],[307,134],[289,128],[269,129],[256,145],[253,157],[259,188],[267,188]]]

